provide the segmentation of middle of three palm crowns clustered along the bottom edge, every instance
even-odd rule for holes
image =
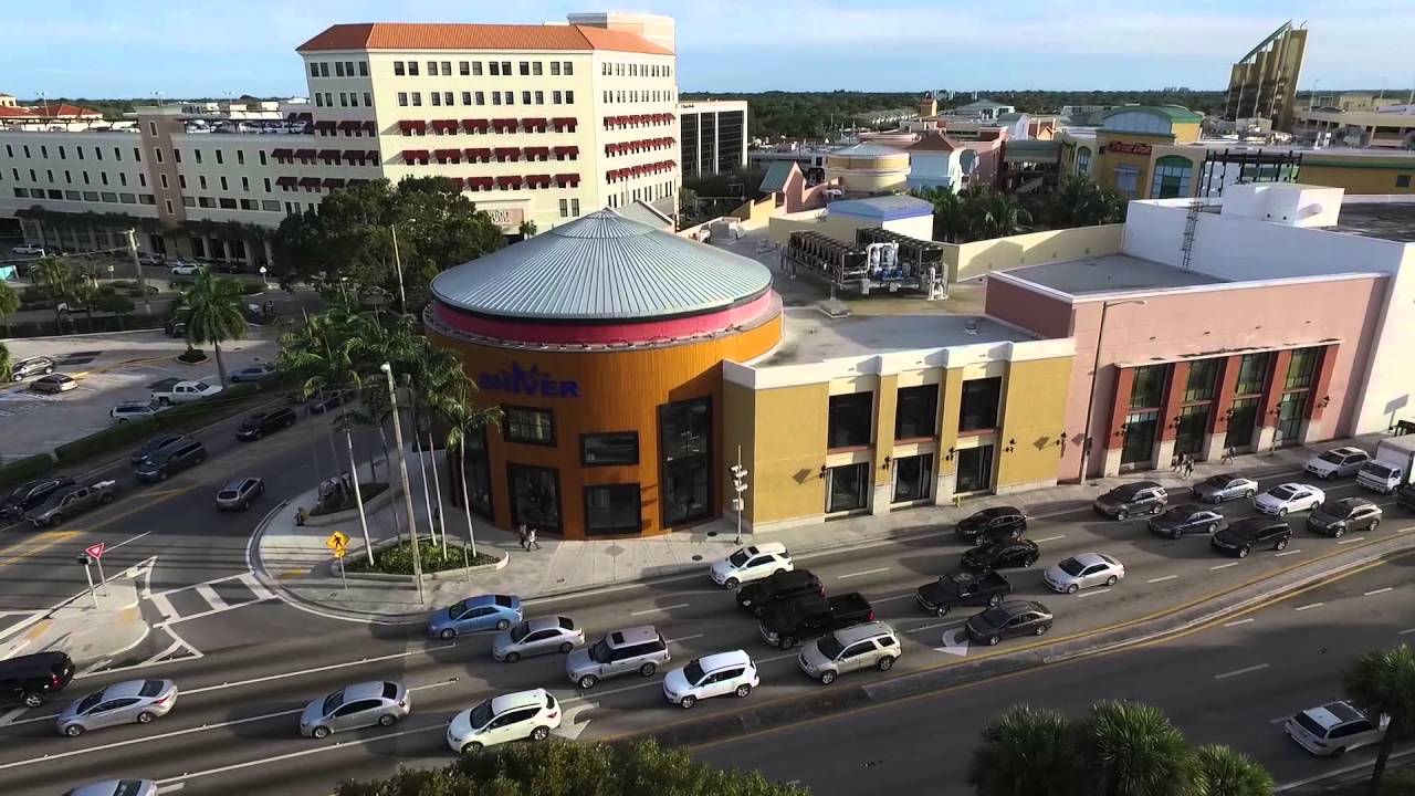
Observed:
[[[1077,727],[1085,792],[1095,796],[1197,796],[1194,754],[1159,708],[1102,701]]]

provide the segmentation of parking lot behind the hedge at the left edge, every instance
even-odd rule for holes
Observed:
[[[177,361],[187,346],[161,330],[116,334],[37,337],[7,343],[14,360],[44,356],[55,373],[72,375],[78,388],[57,395],[30,390],[28,378],[0,385],[0,463],[47,453],[65,442],[113,425],[109,409],[123,401],[147,401],[157,384],[181,380],[216,382],[216,361]],[[246,340],[221,347],[226,371],[272,361],[275,330],[252,329]],[[209,347],[207,348],[209,354]]]

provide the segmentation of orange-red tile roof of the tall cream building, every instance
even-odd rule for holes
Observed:
[[[614,50],[672,55],[631,33],[586,25],[358,23],[331,25],[296,48],[320,50]]]

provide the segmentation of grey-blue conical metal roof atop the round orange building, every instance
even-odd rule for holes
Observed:
[[[720,310],[770,286],[754,259],[600,210],[444,271],[432,290],[483,316],[624,322]]]

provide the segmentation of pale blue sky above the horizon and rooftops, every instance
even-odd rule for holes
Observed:
[[[683,92],[1221,89],[1230,64],[1289,18],[1312,31],[1303,91],[1415,82],[1411,0],[0,0],[0,92],[303,96],[294,48],[331,24],[603,10],[676,20]]]

